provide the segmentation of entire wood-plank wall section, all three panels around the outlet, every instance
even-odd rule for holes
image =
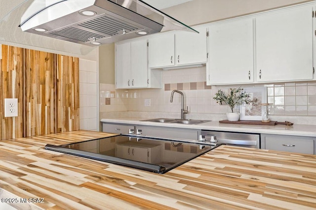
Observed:
[[[4,98],[19,116],[4,118]],[[79,59],[2,45],[0,140],[79,130]]]

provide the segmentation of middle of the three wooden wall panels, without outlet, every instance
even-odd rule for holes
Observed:
[[[25,133],[36,136],[56,132],[55,55],[25,49]]]

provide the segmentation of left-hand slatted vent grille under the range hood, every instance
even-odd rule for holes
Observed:
[[[74,39],[79,42],[87,42],[91,39],[91,37],[95,38],[103,38],[104,35],[92,33],[86,30],[77,29],[75,27],[69,27],[62,30],[55,30],[49,33],[55,37],[60,37],[62,39]]]

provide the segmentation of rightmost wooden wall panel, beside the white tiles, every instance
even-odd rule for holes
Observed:
[[[79,130],[79,59],[57,56],[57,132]]]

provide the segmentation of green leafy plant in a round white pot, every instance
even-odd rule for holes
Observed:
[[[218,90],[215,93],[214,99],[216,100],[217,103],[220,103],[221,105],[223,102],[228,105],[232,112],[227,113],[227,119],[229,121],[237,121],[239,120],[239,113],[234,113],[234,108],[236,105],[241,104],[242,102],[245,102],[246,104],[249,104],[252,102],[249,93],[245,93],[242,91],[240,87],[238,89],[230,89],[230,91],[226,94],[222,90]]]

